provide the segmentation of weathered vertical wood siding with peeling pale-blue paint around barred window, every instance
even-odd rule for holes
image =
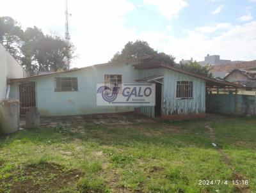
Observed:
[[[176,98],[177,81],[193,81],[193,98]],[[184,73],[164,69],[162,116],[205,112],[205,81]]]

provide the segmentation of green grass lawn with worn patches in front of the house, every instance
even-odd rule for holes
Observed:
[[[239,192],[206,120],[127,119],[77,120],[2,136],[0,192]],[[232,167],[249,181],[248,191],[256,192],[256,118],[207,123]]]

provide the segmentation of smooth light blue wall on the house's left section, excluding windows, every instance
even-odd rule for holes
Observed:
[[[36,105],[42,116],[96,114],[104,112],[134,111],[131,106],[97,106],[97,84],[104,83],[104,74],[122,74],[123,83],[136,83],[138,70],[132,65],[120,63],[108,66],[90,66],[76,72],[59,73],[38,77],[36,82]],[[78,91],[54,92],[54,77],[77,77]],[[17,96],[17,82],[12,85],[11,95]]]

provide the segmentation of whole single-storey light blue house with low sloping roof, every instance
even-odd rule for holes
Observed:
[[[22,114],[29,107],[37,107],[42,116],[128,112],[140,108],[147,116],[166,119],[204,117],[206,87],[236,87],[236,84],[187,72],[150,57],[10,79],[9,82],[12,84],[10,96],[20,99]],[[97,106],[97,84],[147,82],[156,83],[154,107]]]

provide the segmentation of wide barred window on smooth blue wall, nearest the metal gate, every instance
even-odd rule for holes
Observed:
[[[56,77],[54,82],[55,92],[78,91],[76,77]]]

